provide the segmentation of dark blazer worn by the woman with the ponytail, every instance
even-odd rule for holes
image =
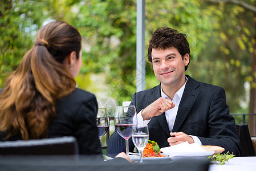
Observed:
[[[74,136],[78,140],[80,154],[101,154],[96,110],[95,95],[76,88],[56,102],[56,116],[50,123],[48,137]],[[5,135],[0,133],[1,141],[3,137]],[[9,140],[21,140],[21,136],[13,136]]]

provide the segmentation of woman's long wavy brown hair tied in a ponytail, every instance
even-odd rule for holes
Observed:
[[[78,59],[80,50],[81,36],[68,23],[55,21],[40,28],[34,46],[7,79],[0,96],[0,131],[6,139],[47,137],[56,100],[76,86],[63,61],[72,51]]]

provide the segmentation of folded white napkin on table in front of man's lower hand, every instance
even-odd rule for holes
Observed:
[[[160,149],[163,153],[167,154],[169,157],[173,156],[210,156],[214,152],[206,152],[199,144],[193,143],[189,144],[188,141],[168,146]]]

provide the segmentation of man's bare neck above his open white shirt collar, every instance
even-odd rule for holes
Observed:
[[[181,80],[179,84],[173,84],[172,86],[166,86],[164,84],[161,84],[162,91],[165,93],[166,96],[170,98],[170,100],[173,100],[173,97],[175,93],[186,83],[186,78],[184,76],[184,79]]]

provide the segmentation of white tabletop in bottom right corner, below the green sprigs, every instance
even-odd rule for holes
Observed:
[[[256,157],[234,157],[224,165],[210,164],[209,171],[256,171]]]

